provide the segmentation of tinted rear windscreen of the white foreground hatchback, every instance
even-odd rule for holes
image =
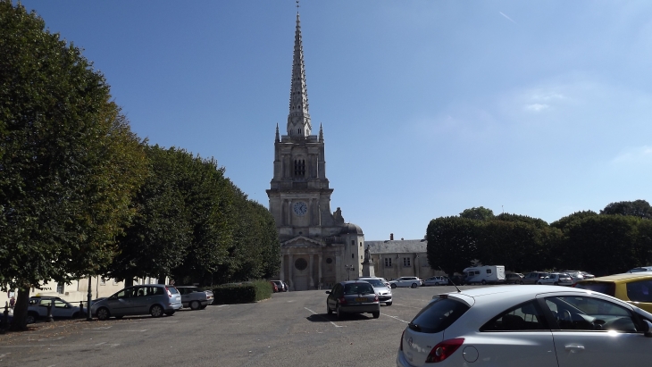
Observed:
[[[438,333],[457,321],[469,306],[450,298],[436,298],[423,307],[410,322],[409,328],[418,332]]]

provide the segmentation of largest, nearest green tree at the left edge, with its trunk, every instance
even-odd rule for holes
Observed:
[[[93,274],[129,221],[144,154],[104,76],[36,13],[0,0],[0,285]]]

